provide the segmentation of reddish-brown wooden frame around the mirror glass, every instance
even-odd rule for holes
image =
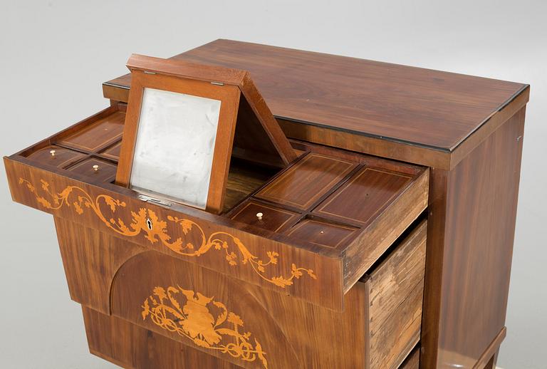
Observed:
[[[130,178],[137,140],[138,125],[142,108],[142,95],[145,88],[155,88],[187,95],[199,96],[220,100],[219,122],[217,126],[217,137],[214,144],[214,153],[209,180],[209,191],[207,194],[207,212],[219,213],[224,205],[224,194],[226,192],[226,180],[230,167],[231,150],[234,142],[234,131],[239,108],[241,91],[235,85],[215,83],[207,80],[197,80],[176,76],[174,73],[162,73],[157,70],[157,58],[136,56],[138,66],[129,65],[131,70],[132,85],[125,116],[125,127],[123,130],[123,142],[120,150],[120,160],[116,173],[116,184],[130,187]],[[130,62],[135,56],[130,58]],[[150,66],[150,68],[147,68]],[[167,195],[166,195],[167,197]],[[172,199],[169,197],[169,199]],[[184,204],[184,200],[181,199]],[[192,205],[189,205],[192,206]]]

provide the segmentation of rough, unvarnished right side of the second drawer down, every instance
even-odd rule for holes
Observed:
[[[398,368],[420,341],[426,232],[422,221],[366,282],[372,368]]]

